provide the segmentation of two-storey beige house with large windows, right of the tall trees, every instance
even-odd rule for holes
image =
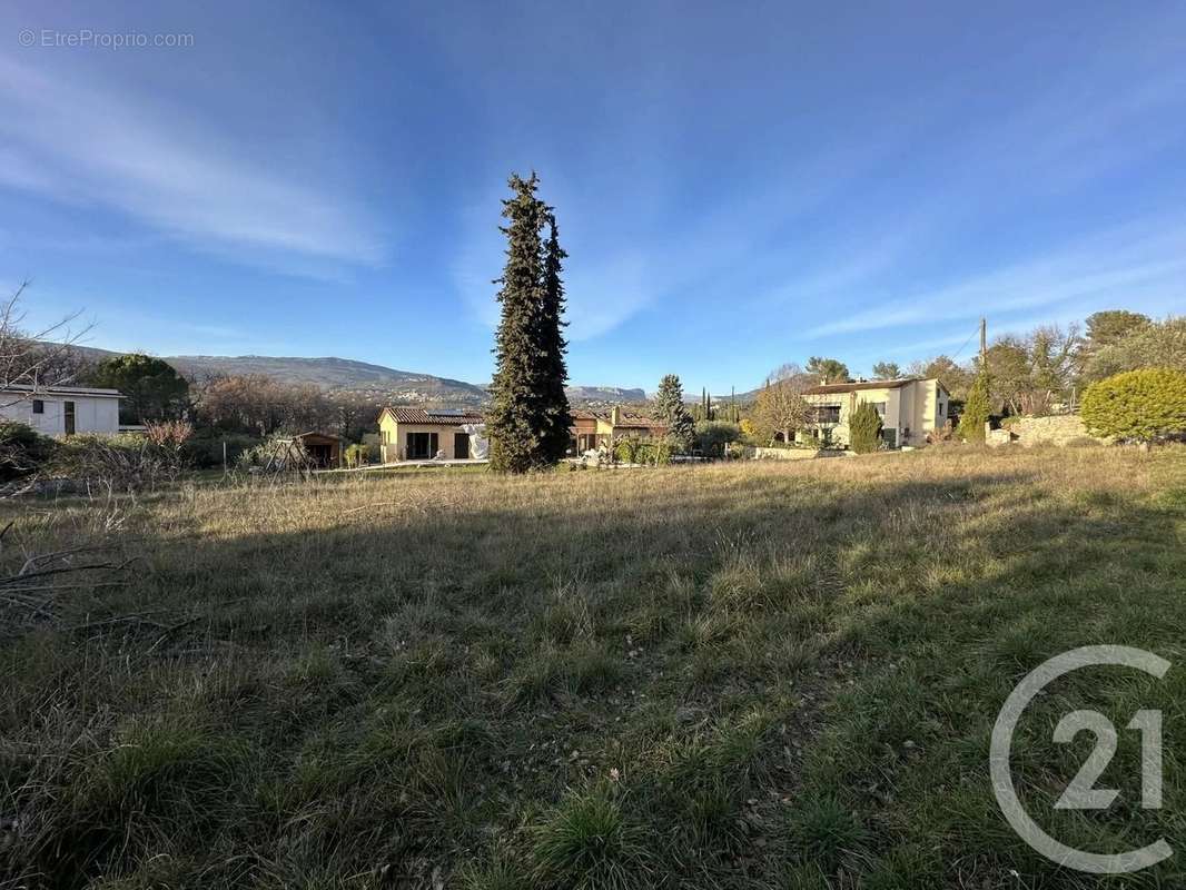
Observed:
[[[815,415],[811,426],[798,431],[796,439],[815,432],[837,447],[848,445],[848,421],[863,402],[872,403],[881,415],[881,438],[888,447],[923,445],[927,433],[942,430],[951,415],[951,395],[935,379],[829,383],[804,390],[803,398]]]

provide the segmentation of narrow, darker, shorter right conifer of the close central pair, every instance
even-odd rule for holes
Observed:
[[[546,463],[554,464],[568,452],[569,430],[573,417],[568,409],[568,395],[565,382],[568,380],[568,364],[565,361],[565,342],[562,328],[565,314],[565,281],[560,276],[563,271],[563,259],[568,256],[560,246],[556,216],[547,208],[548,241],[543,247],[543,287],[542,305],[537,339],[543,352],[542,413],[543,432],[541,456]]]

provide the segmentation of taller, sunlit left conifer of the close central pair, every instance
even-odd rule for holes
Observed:
[[[506,472],[527,472],[542,463],[546,356],[540,348],[542,262],[540,229],[543,204],[535,197],[538,180],[511,176],[514,197],[503,201],[503,216],[510,222],[499,227],[506,235],[506,265],[498,301],[502,320],[495,339],[498,368],[490,386],[491,405],[486,415],[490,437],[490,465]]]

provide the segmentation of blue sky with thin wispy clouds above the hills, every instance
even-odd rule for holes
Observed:
[[[487,380],[531,169],[578,383],[1186,310],[1181,2],[107,7],[0,12],[0,282],[93,345]]]

